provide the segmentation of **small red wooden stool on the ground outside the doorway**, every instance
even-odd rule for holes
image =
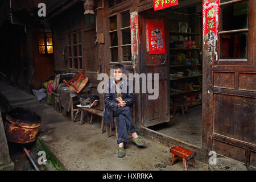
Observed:
[[[185,171],[187,171],[188,164],[196,168],[196,161],[194,159],[196,152],[180,146],[170,148],[170,152],[172,153],[171,166],[174,165],[175,160],[179,159],[180,161],[183,160],[183,169]]]

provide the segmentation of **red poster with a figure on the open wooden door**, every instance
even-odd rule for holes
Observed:
[[[149,54],[166,53],[164,23],[147,22]]]

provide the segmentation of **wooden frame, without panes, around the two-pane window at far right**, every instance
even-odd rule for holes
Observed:
[[[248,26],[247,28],[243,29],[237,29],[237,30],[227,30],[227,31],[221,31],[221,8],[226,7],[229,5],[233,5],[235,3],[241,3],[241,2],[249,2],[248,6]],[[254,1],[254,0],[253,0]],[[221,2],[220,0],[220,6],[219,6],[219,17],[218,17],[218,41],[217,41],[217,48],[216,51],[218,53],[218,60],[217,64],[233,64],[233,63],[239,63],[239,64],[251,64],[252,63],[252,40],[250,37],[253,35],[253,23],[254,23],[254,17],[253,17],[253,2],[252,0],[232,0],[228,2]],[[223,34],[232,34],[232,33],[242,33],[247,32],[247,55],[245,59],[221,59],[221,35]]]

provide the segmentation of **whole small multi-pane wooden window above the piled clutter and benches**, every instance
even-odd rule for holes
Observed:
[[[68,35],[68,62],[69,69],[82,69],[81,32]]]

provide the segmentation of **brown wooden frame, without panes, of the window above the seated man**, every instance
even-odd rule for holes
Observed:
[[[123,36],[122,36],[123,30],[127,30],[127,29],[129,29],[130,34],[131,34],[131,26],[122,27],[122,14],[123,13],[127,13],[127,12],[129,13],[129,17],[131,17],[130,9],[125,9],[125,10],[119,11],[118,13],[115,13],[115,14],[112,14],[112,15],[108,16],[108,19],[109,19],[109,30],[110,30],[110,18],[112,18],[113,16],[116,16],[116,18],[117,18],[117,30],[112,30],[112,31],[110,30],[108,32],[110,40],[111,40],[111,33],[115,32],[115,31],[117,32],[117,46],[112,46],[111,45],[111,41],[110,41],[110,44],[109,44],[109,48],[110,48],[110,64],[122,64],[122,63],[132,64],[132,60],[130,60],[130,61],[123,61],[123,47],[130,46],[130,50],[131,50],[131,40],[130,40],[130,44],[123,44]],[[111,50],[112,48],[118,48],[118,61],[117,62],[112,61],[113,60],[112,59],[112,50]]]

